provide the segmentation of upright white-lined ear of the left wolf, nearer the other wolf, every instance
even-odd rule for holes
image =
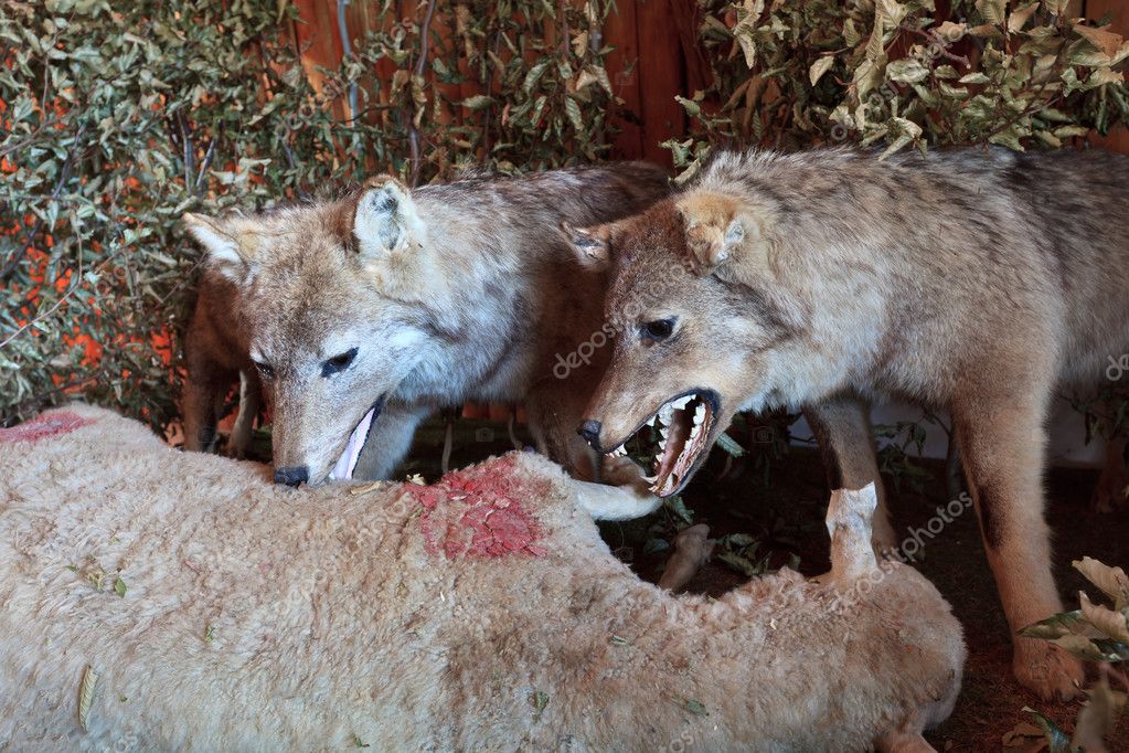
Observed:
[[[370,180],[353,214],[353,236],[361,256],[378,257],[423,239],[423,222],[403,183],[390,175]]]

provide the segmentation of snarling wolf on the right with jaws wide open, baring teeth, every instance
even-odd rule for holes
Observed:
[[[945,406],[1014,632],[1061,606],[1052,391],[1129,352],[1126,207],[1129,157],[1101,151],[723,154],[641,216],[570,233],[612,271],[606,315],[630,313],[580,430],[609,453],[657,417],[666,496],[737,411],[804,408],[858,488],[878,479],[859,399]],[[1014,671],[1043,695],[1082,677],[1025,638]]]

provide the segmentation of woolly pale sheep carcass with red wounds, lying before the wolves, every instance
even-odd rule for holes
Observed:
[[[576,483],[294,490],[103,410],[0,430],[0,751],[918,750],[952,709],[912,569],[672,596]]]

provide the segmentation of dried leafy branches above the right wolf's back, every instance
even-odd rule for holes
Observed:
[[[708,91],[680,98],[697,172],[723,143],[1058,147],[1129,116],[1129,43],[1065,0],[706,0]]]

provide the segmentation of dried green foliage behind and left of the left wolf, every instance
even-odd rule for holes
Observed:
[[[610,0],[406,7],[323,70],[278,0],[0,3],[0,424],[77,395],[175,418],[186,210],[605,154]]]

